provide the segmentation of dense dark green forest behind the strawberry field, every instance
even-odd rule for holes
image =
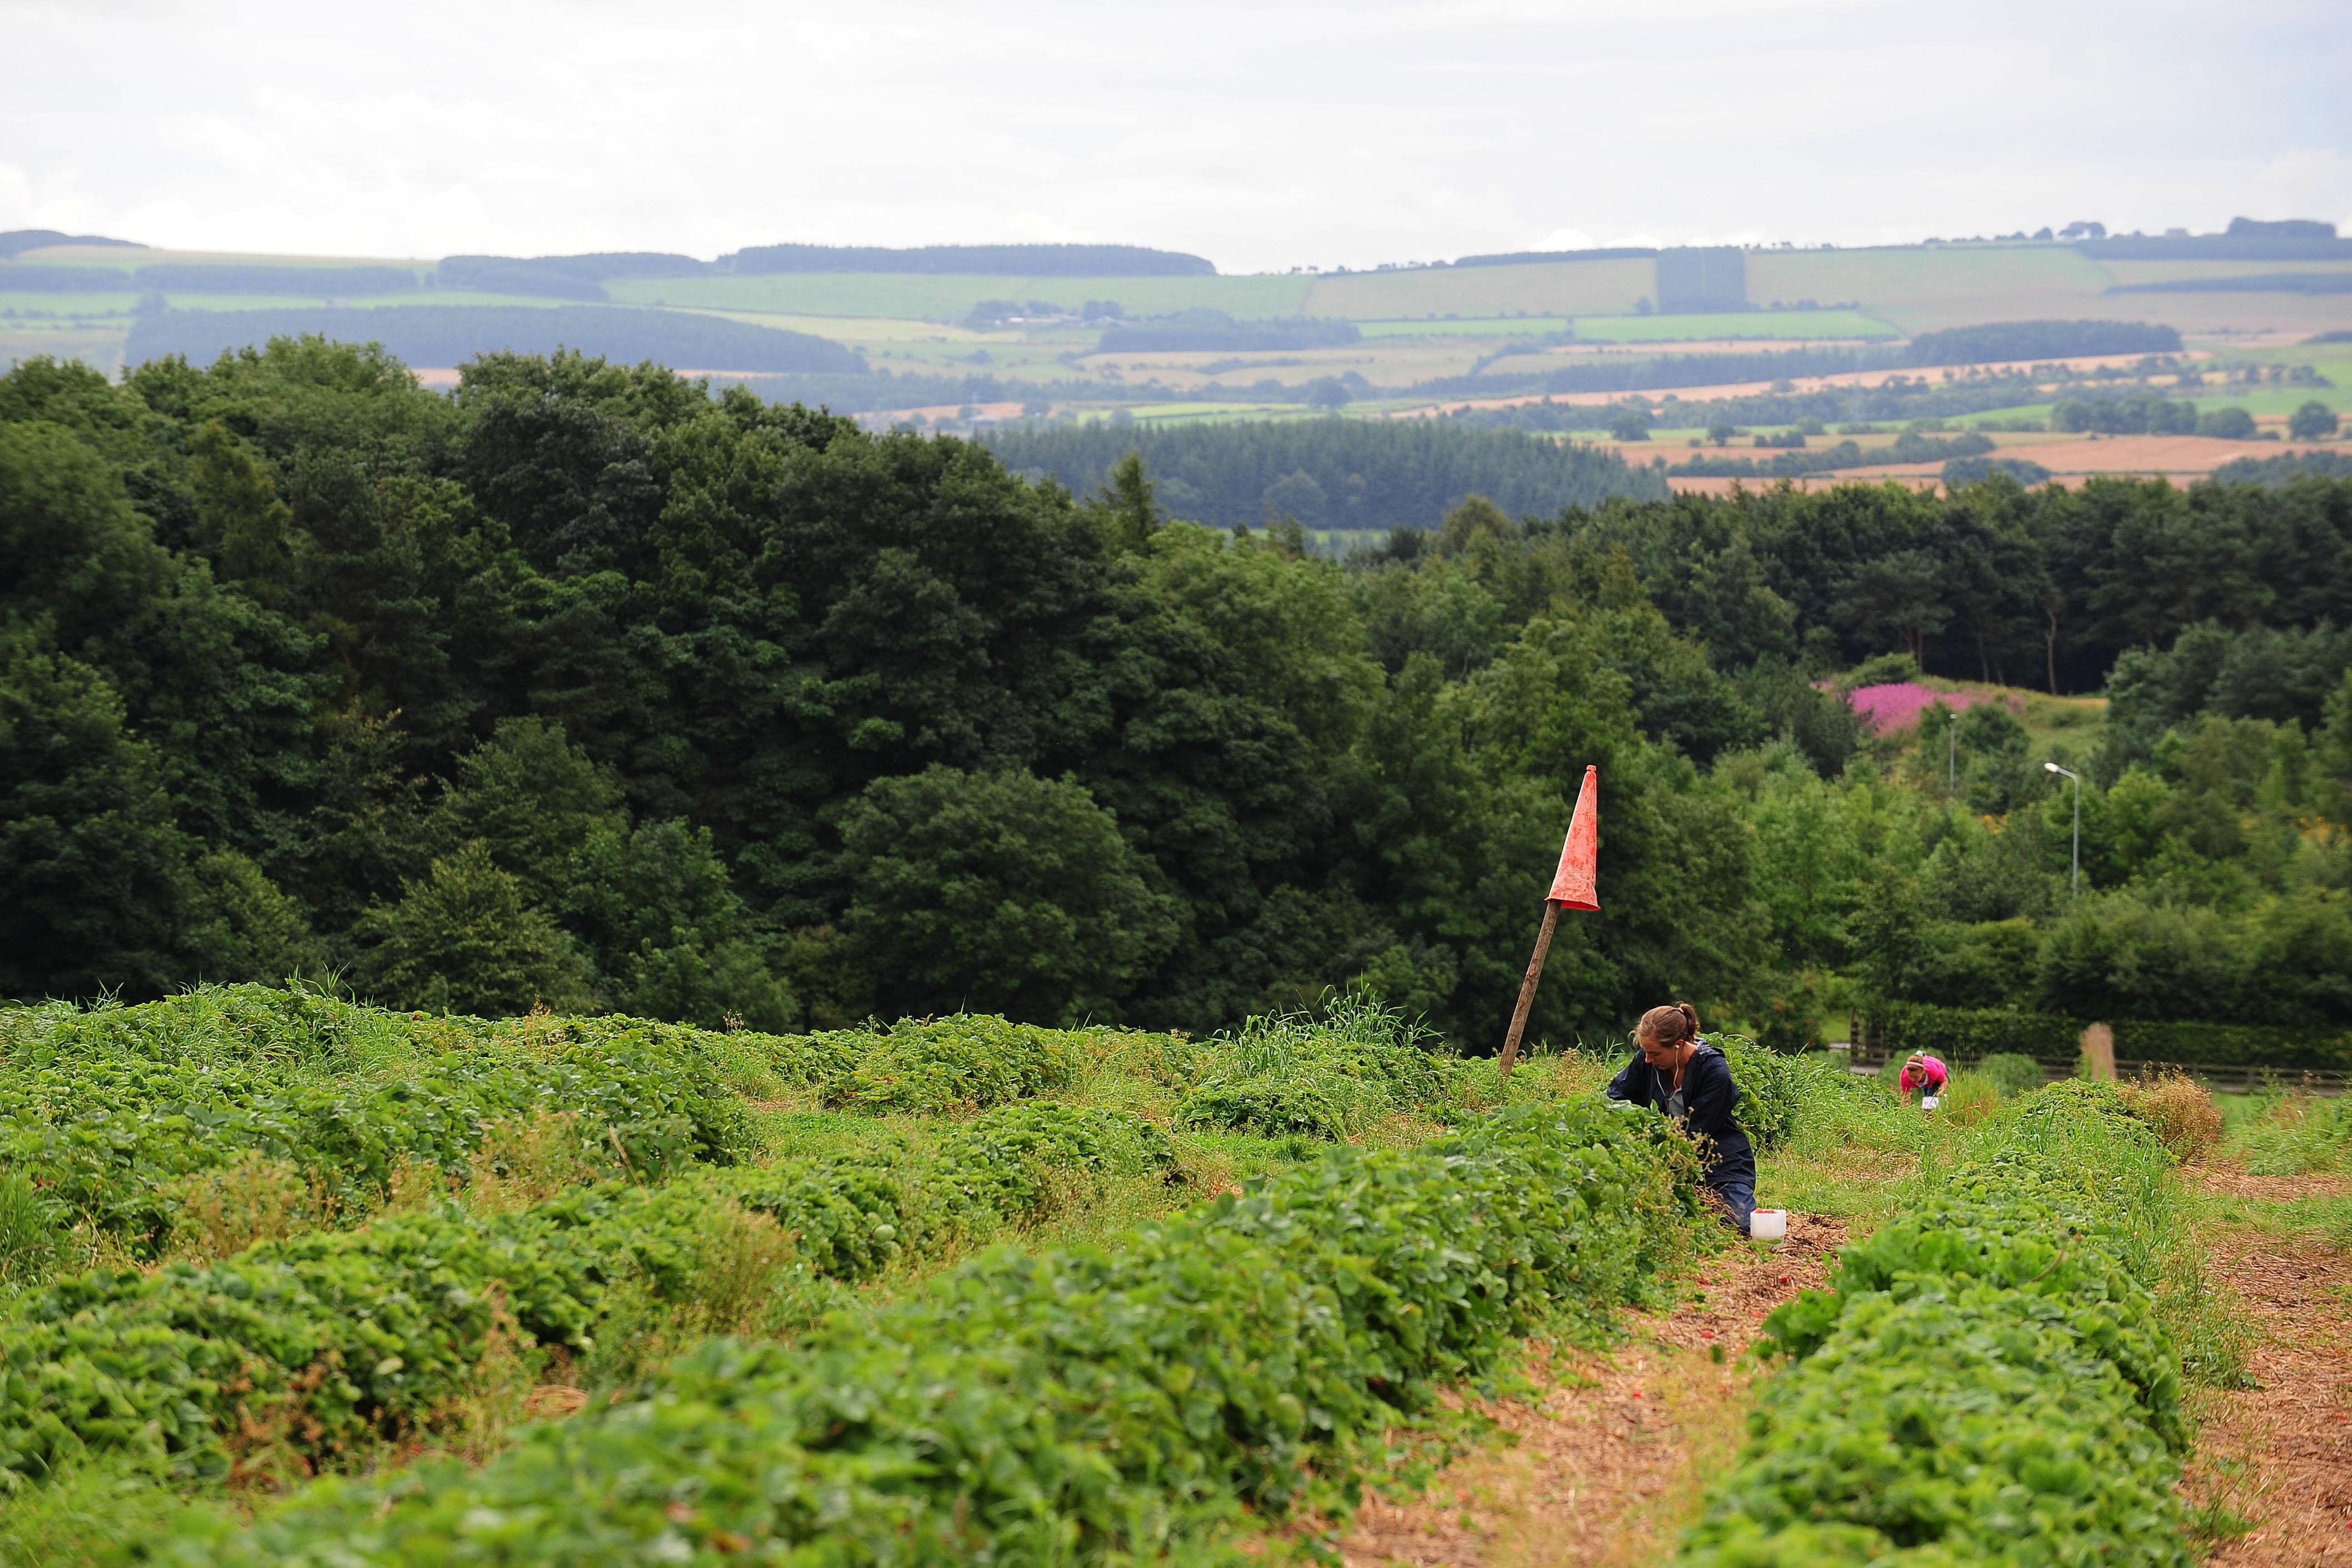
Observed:
[[[1143,463],[1073,494],[652,364],[21,364],[0,992],[1207,1030],[1362,983],[1484,1048],[1599,764],[1552,1037],[1672,994],[2352,1025],[2352,482],[1451,487],[1338,562]],[[2056,743],[2079,900],[2046,738],[1823,689],[1915,665],[2112,693]]]

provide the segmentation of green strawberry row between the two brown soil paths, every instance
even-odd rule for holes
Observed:
[[[2187,1429],[2145,1218],[2169,1180],[2105,1084],[2058,1084],[1766,1321],[1792,1356],[1684,1563],[2185,1566]]]

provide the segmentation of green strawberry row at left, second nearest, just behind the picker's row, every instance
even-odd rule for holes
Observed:
[[[1042,1213],[1056,1171],[1167,1175],[1174,1152],[1124,1112],[1016,1105],[924,1147],[607,1182],[510,1215],[440,1204],[209,1265],[59,1279],[0,1316],[0,1488],[92,1455],[212,1483],[256,1441],[332,1467],[428,1427],[494,1335],[586,1349],[621,1286],[689,1302],[729,1211],[795,1237],[797,1269],[856,1281]]]

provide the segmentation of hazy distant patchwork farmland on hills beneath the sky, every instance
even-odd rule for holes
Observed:
[[[2117,393],[2119,371],[2154,388],[2173,381],[2178,367],[2192,367],[2206,378],[2190,395],[2197,411],[2244,407],[2256,418],[2251,440],[2263,440],[2286,435],[2305,402],[2340,411],[2336,388],[2352,371],[2352,350],[2326,341],[2352,329],[2352,294],[2331,282],[2352,282],[2352,259],[2326,249],[2336,242],[2300,244],[2277,256],[2232,249],[2211,261],[2197,259],[2194,247],[2171,256],[2161,244],[2159,259],[2145,259],[2147,244],[2126,240],[1606,252],[1237,277],[1200,259],[1160,261],[1157,252],[1122,254],[1131,273],[948,270],[1002,261],[997,252],[1021,247],[995,247],[969,263],[941,261],[938,270],[924,263],[924,270],[861,273],[797,270],[828,266],[821,254],[795,259],[795,270],[762,270],[779,263],[760,249],[720,263],[684,256],[386,263],[24,244],[0,261],[0,357],[71,355],[111,369],[153,353],[209,360],[228,343],[270,331],[381,331],[430,386],[454,383],[456,364],[485,348],[572,343],[654,357],[720,383],[743,381],[767,397],[826,402],[870,423],[929,430],[1301,418],[1329,409],[1367,418],[1494,418],[1496,409],[1536,402],[1639,404],[1668,444],[1686,444],[1722,423],[1738,425],[1743,437],[1790,435],[1799,421],[1764,418],[1769,409],[1750,407],[1783,383],[1863,386],[1889,374],[1879,367],[1790,376],[1773,362],[1790,348],[1811,348],[1823,364],[1844,355],[1936,381],[1983,374],[1985,362],[1905,362],[1893,350],[1915,334],[1983,322],[2133,320],[2173,329],[2180,350],[2152,371],[2138,357],[2096,367],[2107,376],[2096,390]],[[1134,327],[1162,322],[1169,327]],[[1327,341],[1294,341],[1287,322],[1317,322]],[[1160,346],[1122,343],[1143,336]],[[1978,400],[1969,409],[1973,423],[2046,423],[2049,400],[2070,390],[2063,383],[2093,369],[2079,355],[2042,360],[2063,362],[2065,371],[2009,388],[2009,402]],[[1717,369],[1693,381],[1698,362]],[[1606,374],[1595,376],[1595,367]],[[2272,371],[2300,371],[2307,395],[2265,397],[2230,381]],[[1566,430],[1602,433],[1606,423],[1569,421]],[[2206,468],[2230,461],[2218,451],[2204,456],[2211,456]],[[2070,454],[2070,475],[2197,473],[2178,454],[2173,468],[2114,449]],[[1689,487],[1715,487],[1719,477],[1700,475]]]

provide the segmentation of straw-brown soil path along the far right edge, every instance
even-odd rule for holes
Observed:
[[[2213,1173],[2234,1197],[2340,1192],[2343,1178]],[[2286,1192],[2267,1187],[2286,1187]],[[2253,1530],[2211,1568],[2352,1566],[2352,1258],[2319,1241],[2249,1229],[2213,1244],[2213,1279],[2244,1302],[2258,1342],[2256,1389],[2209,1392],[2185,1490]]]

